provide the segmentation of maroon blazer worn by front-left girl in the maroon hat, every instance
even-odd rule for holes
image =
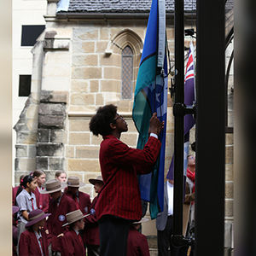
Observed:
[[[42,240],[43,240],[43,250],[44,256],[49,256],[47,237],[44,230],[41,230]],[[20,235],[19,241],[19,256],[40,256],[42,255],[38,239],[34,231],[25,230]]]

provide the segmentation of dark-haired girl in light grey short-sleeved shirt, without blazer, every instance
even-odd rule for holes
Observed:
[[[18,212],[18,244],[20,240],[20,234],[25,230],[25,225],[28,221],[28,214],[37,207],[36,196],[34,191],[37,188],[37,178],[32,175],[26,175],[20,183],[20,188],[16,195],[16,204],[20,208]]]

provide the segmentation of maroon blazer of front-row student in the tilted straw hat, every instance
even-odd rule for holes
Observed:
[[[68,230],[61,237],[61,256],[85,256],[82,237],[74,230]]]

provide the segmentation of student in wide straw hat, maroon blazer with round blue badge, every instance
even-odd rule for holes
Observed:
[[[67,212],[73,212],[78,209],[73,199],[69,196],[62,194],[61,189],[66,187],[65,183],[61,183],[57,179],[51,179],[45,183],[45,189],[41,192],[43,194],[49,194],[51,200],[49,201],[49,213],[51,215],[47,219],[47,233],[49,239],[49,251],[61,252],[60,236],[65,229],[62,227],[66,224]]]

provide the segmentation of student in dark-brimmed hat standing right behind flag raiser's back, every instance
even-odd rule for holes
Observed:
[[[96,194],[100,192],[104,183],[102,176],[96,178],[90,178],[89,182],[94,185]],[[99,256],[100,255],[100,231],[99,225],[96,220],[95,206],[97,201],[97,195],[91,203],[90,215],[84,218],[84,231],[85,231],[85,243],[87,247],[88,256]]]

